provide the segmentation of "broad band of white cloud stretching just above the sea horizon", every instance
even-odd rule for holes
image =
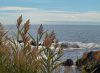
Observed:
[[[100,22],[100,12],[66,12],[42,10],[26,7],[0,7],[0,22],[15,24],[18,16],[23,15],[24,21],[31,20],[32,24],[50,24],[60,22]]]

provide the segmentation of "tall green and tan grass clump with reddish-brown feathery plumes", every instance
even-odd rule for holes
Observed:
[[[57,73],[63,53],[55,33],[48,33],[41,24],[34,38],[29,33],[30,20],[22,21],[21,15],[15,37],[7,38],[6,32],[0,36],[0,73]]]

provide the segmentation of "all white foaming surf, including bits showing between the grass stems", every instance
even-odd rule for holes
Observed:
[[[17,42],[17,41],[16,41]],[[41,43],[41,42],[40,42]],[[41,43],[42,44],[42,43]],[[64,50],[83,50],[83,49],[91,49],[91,50],[100,50],[100,43],[83,43],[83,42],[68,42],[68,41],[62,41],[59,42],[60,46],[64,49]],[[23,42],[21,42],[19,44],[19,48],[22,48],[23,46]],[[32,48],[34,47],[34,45],[31,46]],[[41,48],[41,45],[39,46],[39,48]],[[54,44],[52,44],[51,49],[54,49]],[[59,47],[56,49],[58,50]]]

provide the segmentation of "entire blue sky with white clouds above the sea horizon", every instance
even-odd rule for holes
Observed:
[[[20,15],[31,24],[100,23],[100,0],[0,0],[2,24],[16,24]]]

